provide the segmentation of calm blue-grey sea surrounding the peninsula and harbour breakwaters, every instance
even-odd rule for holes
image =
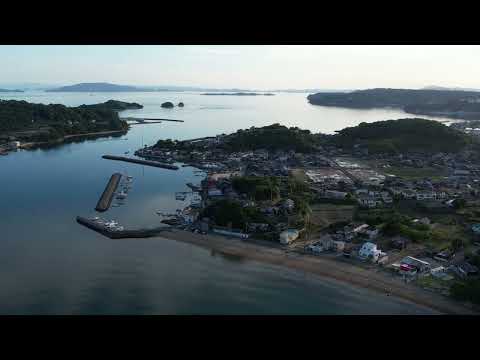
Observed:
[[[0,314],[424,314],[401,300],[301,272],[164,239],[110,240],[78,225],[93,216],[113,172],[134,177],[126,205],[102,216],[158,226],[156,210],[182,207],[175,191],[198,183],[192,169],[143,167],[101,158],[159,138],[191,138],[279,122],[331,133],[362,121],[407,117],[394,110],[309,105],[302,94],[273,97],[195,93],[2,94],[2,99],[81,105],[109,99],[144,109],[122,116],[185,123],[132,127],[121,138],[64,144],[0,157]],[[164,101],[185,108],[162,109]]]

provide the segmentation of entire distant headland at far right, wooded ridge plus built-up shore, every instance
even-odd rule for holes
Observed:
[[[400,108],[416,115],[480,119],[480,92],[465,90],[370,89],[349,93],[317,93],[307,97],[313,105],[357,109]]]

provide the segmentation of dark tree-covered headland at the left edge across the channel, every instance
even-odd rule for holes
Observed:
[[[117,100],[78,107],[0,100],[0,143],[3,147],[7,143],[30,146],[74,137],[123,134],[128,124],[118,112],[142,107]]]

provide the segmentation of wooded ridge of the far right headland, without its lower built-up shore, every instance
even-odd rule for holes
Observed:
[[[480,99],[480,93],[456,90],[370,89],[350,93],[317,93],[309,95],[307,99],[311,104],[322,106],[403,109],[413,104],[445,104],[465,99]]]

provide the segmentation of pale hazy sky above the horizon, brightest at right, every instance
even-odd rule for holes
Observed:
[[[480,88],[480,46],[0,46],[0,83]]]

